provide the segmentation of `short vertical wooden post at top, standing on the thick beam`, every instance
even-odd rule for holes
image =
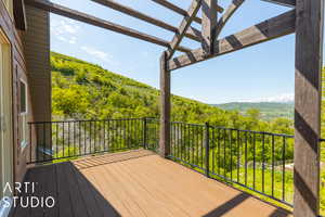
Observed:
[[[206,55],[213,53],[217,27],[217,0],[202,1],[202,47]]]

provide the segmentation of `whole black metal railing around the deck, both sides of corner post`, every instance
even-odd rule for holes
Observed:
[[[171,159],[207,177],[292,205],[294,136],[176,122],[170,128]],[[159,120],[29,123],[29,138],[28,164],[139,148],[159,152]]]

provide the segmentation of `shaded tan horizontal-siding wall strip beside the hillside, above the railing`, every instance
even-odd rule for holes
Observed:
[[[26,5],[28,28],[24,34],[28,81],[35,122],[51,120],[51,66],[49,13]]]

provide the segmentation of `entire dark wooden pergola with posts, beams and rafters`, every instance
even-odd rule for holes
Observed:
[[[164,157],[170,153],[171,71],[296,33],[294,215],[318,216],[323,0],[264,0],[292,10],[225,38],[219,37],[222,28],[245,0],[232,0],[227,9],[219,7],[217,0],[192,0],[188,10],[167,0],[148,0],[181,14],[183,20],[178,27],[118,1],[91,1],[172,31],[174,36],[171,41],[167,41],[47,0],[25,0],[25,3],[167,48],[160,58],[160,154]],[[203,13],[198,17],[200,9]],[[202,29],[191,26],[193,22],[200,24]],[[199,41],[202,47],[191,50],[180,46],[184,37]],[[184,54],[174,58],[176,51]]]

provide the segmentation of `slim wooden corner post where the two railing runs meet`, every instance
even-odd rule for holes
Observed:
[[[160,155],[170,154],[170,71],[167,71],[167,52],[160,58]]]

